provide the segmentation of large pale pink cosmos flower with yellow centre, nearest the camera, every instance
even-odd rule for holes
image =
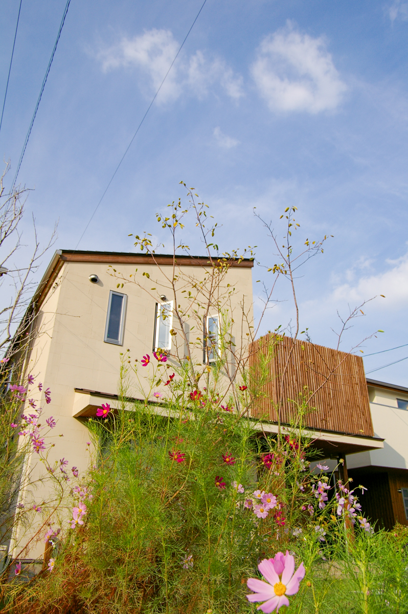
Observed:
[[[248,588],[254,593],[247,595],[247,599],[255,603],[263,601],[264,603],[258,605],[256,609],[262,610],[265,614],[270,614],[274,610],[279,612],[282,605],[289,605],[287,596],[294,595],[299,590],[299,582],[305,575],[303,563],[294,572],[293,556],[288,551],[285,555],[278,552],[273,559],[261,561],[258,569],[268,583],[257,578],[248,578]]]

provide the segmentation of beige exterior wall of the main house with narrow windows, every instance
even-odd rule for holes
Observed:
[[[153,296],[134,283],[125,284],[123,289],[117,289],[118,280],[109,274],[108,266],[107,263],[64,263],[56,283],[48,292],[40,308],[36,321],[39,335],[35,338],[29,354],[26,375],[33,374],[36,381],[28,396],[40,402],[39,405],[43,408],[42,424],[49,416],[53,416],[57,421],[56,428],[47,437],[47,444],[50,443],[50,437],[55,443],[55,447],[50,449],[48,461],[50,465],[53,465],[53,462],[64,457],[69,461],[67,470],[70,473],[74,465],[80,473],[85,472],[90,461],[87,447],[88,429],[83,422],[72,417],[72,414],[75,413],[74,389],[117,394],[120,352],[129,348],[133,363],[135,358],[140,360],[144,354],[150,354],[153,359],[155,304],[159,300],[159,295],[163,293],[167,295],[168,300],[173,300],[170,291],[165,287],[166,280],[155,265],[137,265],[139,268],[138,281]],[[127,278],[136,269],[136,265],[127,263],[114,266]],[[172,266],[163,265],[163,269],[172,277]],[[142,276],[141,271],[149,273],[150,279]],[[184,275],[187,274],[196,281],[200,281],[205,274],[204,269],[200,266],[183,266],[182,271]],[[89,281],[90,274],[98,275],[97,284]],[[162,285],[153,282],[158,277]],[[253,324],[251,268],[230,268],[223,286],[226,287],[227,283],[231,285],[231,288],[236,288],[236,292],[231,295],[229,313],[234,318],[233,334],[235,343],[239,347],[241,341],[244,344],[247,343],[248,324]],[[157,292],[150,290],[153,286],[157,287]],[[128,296],[122,346],[104,342],[110,290]],[[187,307],[187,301],[184,301],[183,305],[182,297],[184,296],[179,294],[179,302],[182,307]],[[245,301],[248,322],[244,322],[241,329],[242,308],[240,303],[242,300]],[[173,327],[175,330],[179,328],[174,319]],[[199,336],[202,338],[202,329],[191,333],[194,340]],[[184,342],[181,341],[180,334],[177,335],[177,338],[180,340],[180,346],[183,346],[180,349],[183,355]],[[194,351],[193,360],[200,363],[202,367],[202,349]],[[176,364],[174,361],[173,363]],[[167,360],[167,364],[172,364],[171,358]],[[139,371],[142,374],[147,372],[143,369],[139,362]],[[50,405],[45,404],[44,392],[40,393],[36,388],[39,381],[44,384],[44,388],[49,387],[51,390]],[[140,397],[136,390],[129,390],[128,394]],[[84,399],[86,396],[83,395]],[[78,393],[76,397],[78,399]],[[63,437],[60,437],[60,434]],[[31,454],[31,479],[39,478],[45,473],[44,465],[36,462],[37,459],[37,454]],[[34,493],[34,498],[39,503],[42,500],[46,501],[48,495],[47,487],[39,486]],[[24,500],[24,497],[31,501],[31,496],[29,492],[23,492],[20,501]],[[21,534],[18,537],[21,538]],[[18,548],[15,553],[17,550]],[[25,556],[26,558],[42,558],[43,553],[44,543],[38,543],[33,544]]]

